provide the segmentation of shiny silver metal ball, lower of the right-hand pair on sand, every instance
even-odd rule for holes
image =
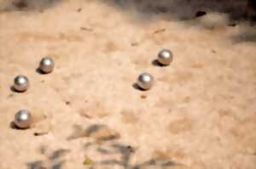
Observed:
[[[150,89],[154,84],[154,77],[149,73],[143,73],[137,78],[137,86],[143,90]]]

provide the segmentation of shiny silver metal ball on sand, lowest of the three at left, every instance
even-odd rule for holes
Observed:
[[[20,110],[15,115],[15,126],[19,128],[28,128],[32,124],[32,115],[29,110]]]

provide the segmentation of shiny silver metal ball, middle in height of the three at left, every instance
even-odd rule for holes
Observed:
[[[29,87],[29,81],[26,76],[19,75],[15,77],[14,80],[14,89],[18,92],[25,92]]]

